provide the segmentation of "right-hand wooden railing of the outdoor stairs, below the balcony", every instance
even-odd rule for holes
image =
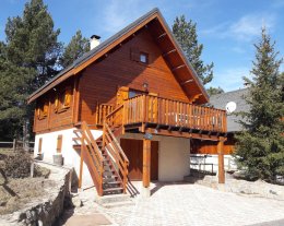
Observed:
[[[129,159],[126,156],[123,150],[121,148],[114,130],[121,129],[123,126],[123,105],[119,106],[111,114],[106,116],[104,122],[104,132],[103,132],[103,148],[111,155],[114,164],[118,170],[118,174],[122,180],[123,193],[127,192],[127,182],[128,182],[128,166]]]

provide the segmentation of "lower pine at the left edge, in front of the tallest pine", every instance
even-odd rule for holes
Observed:
[[[7,60],[5,51],[4,44],[0,43],[0,140],[21,134],[28,84],[35,75],[35,70]]]

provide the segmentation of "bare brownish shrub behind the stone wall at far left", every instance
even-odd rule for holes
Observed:
[[[31,175],[32,157],[24,151],[17,151],[4,159],[5,176],[12,178],[25,178]]]

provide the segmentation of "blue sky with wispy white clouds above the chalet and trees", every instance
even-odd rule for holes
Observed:
[[[8,16],[22,14],[25,0],[0,0],[0,39],[4,40]],[[276,40],[280,57],[284,52],[284,0],[45,0],[59,39],[68,43],[78,29],[108,38],[126,25],[157,7],[169,26],[185,14],[198,24],[199,41],[204,45],[202,59],[214,62],[210,85],[225,91],[242,87],[255,58],[253,44],[262,25]],[[283,66],[281,71],[284,71]]]

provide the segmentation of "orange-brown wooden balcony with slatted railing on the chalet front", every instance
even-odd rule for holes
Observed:
[[[97,122],[103,124],[111,110],[110,106],[98,106]],[[111,124],[123,126],[126,132],[216,141],[227,131],[225,110],[151,95],[129,98],[113,112],[116,118],[109,119]]]

